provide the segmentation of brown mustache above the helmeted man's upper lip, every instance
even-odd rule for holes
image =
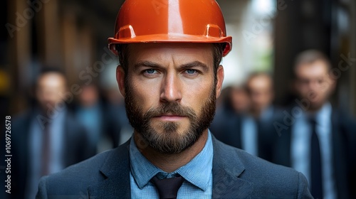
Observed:
[[[148,109],[145,113],[145,119],[151,119],[152,117],[159,117],[164,114],[174,114],[183,117],[189,117],[189,119],[194,119],[197,117],[197,114],[193,109],[189,107],[184,107],[177,102],[164,103],[159,105],[159,107],[152,107]]]

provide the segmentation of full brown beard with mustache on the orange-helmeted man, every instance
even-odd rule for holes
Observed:
[[[190,107],[184,107],[178,102],[165,102],[158,107],[152,107],[144,112],[140,102],[132,96],[132,87],[129,82],[125,83],[125,108],[127,118],[132,127],[142,136],[152,149],[161,154],[179,154],[192,146],[205,129],[208,129],[214,119],[216,109],[216,85],[211,89],[208,99],[203,102],[200,114]],[[161,133],[152,127],[152,118],[164,114],[184,116],[189,119],[189,127],[179,132],[179,122],[158,122]]]

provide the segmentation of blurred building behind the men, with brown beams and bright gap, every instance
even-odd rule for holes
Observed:
[[[63,69],[69,85],[100,82],[117,92],[117,59],[107,49],[123,0],[14,0],[1,6],[1,113],[31,106],[31,86],[43,65]],[[356,2],[351,0],[220,0],[234,48],[224,58],[224,87],[251,72],[274,77],[276,104],[288,104],[293,59],[315,48],[330,57],[337,75],[332,102],[356,115]],[[159,0],[152,4],[161,4]],[[108,97],[108,96],[106,96]],[[112,96],[110,96],[112,99]]]

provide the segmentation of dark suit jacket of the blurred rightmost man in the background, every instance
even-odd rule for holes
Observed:
[[[290,114],[291,115],[291,114]],[[333,109],[332,113],[332,160],[337,198],[356,198],[356,123],[348,114]],[[281,124],[283,120],[281,119]],[[280,136],[272,145],[273,157],[268,161],[292,166],[290,158],[291,129],[281,128]]]

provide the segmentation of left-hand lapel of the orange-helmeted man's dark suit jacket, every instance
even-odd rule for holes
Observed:
[[[88,187],[89,198],[131,198],[129,141],[106,158],[100,168],[105,180]]]

